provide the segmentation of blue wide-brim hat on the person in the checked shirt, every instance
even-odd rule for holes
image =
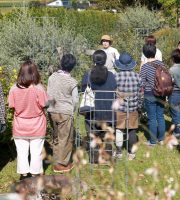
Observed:
[[[123,71],[134,69],[136,64],[136,61],[126,52],[120,54],[119,60],[115,60],[116,67]]]

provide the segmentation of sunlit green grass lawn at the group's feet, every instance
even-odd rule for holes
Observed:
[[[83,128],[83,124],[80,124]],[[150,199],[154,194],[159,199],[167,199],[165,192],[176,191],[172,199],[180,199],[180,154],[175,148],[169,150],[165,145],[148,147],[143,131],[138,133],[139,142],[136,159],[128,161],[126,151],[123,159],[113,164],[114,171],[108,166],[95,166],[86,164],[77,174],[77,168],[70,173],[71,178],[80,177],[88,185],[88,191],[103,190],[113,186],[115,191],[121,191],[128,195],[128,199]],[[19,179],[16,173],[16,155],[13,145],[0,148],[0,193],[10,191],[10,185]],[[45,174],[54,174],[52,166],[46,165]],[[112,188],[111,188],[112,189]],[[106,199],[106,198],[100,198]]]

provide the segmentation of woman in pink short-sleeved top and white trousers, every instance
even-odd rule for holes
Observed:
[[[37,66],[31,60],[25,61],[8,97],[9,107],[14,109],[13,138],[20,180],[30,174],[35,176],[43,173],[41,153],[46,134],[44,107],[47,100],[47,94],[40,84]]]

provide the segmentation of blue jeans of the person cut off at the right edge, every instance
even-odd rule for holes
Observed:
[[[175,124],[174,134],[180,134],[180,92],[173,92],[169,97],[172,123]]]

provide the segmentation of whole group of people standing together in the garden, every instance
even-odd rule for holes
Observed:
[[[123,137],[128,128],[127,150],[129,159],[132,160],[135,158],[132,147],[137,142],[139,112],[143,106],[147,112],[150,132],[147,145],[163,143],[166,97],[157,97],[153,93],[156,70],[153,66],[164,68],[165,65],[162,62],[161,51],[156,48],[156,39],[152,35],[147,37],[143,46],[140,73],[134,71],[137,63],[129,53],[119,53],[111,46],[112,39],[109,35],[102,36],[101,44],[102,49],[95,51],[92,56],[93,67],[82,79],[82,92],[87,85],[97,91],[95,111],[87,112],[85,115],[86,131],[89,136],[92,129],[101,129],[96,122],[105,121],[109,126],[115,123],[116,150],[113,156],[121,158]],[[169,103],[172,123],[175,124],[174,135],[178,137],[180,136],[180,49],[173,50],[171,58],[173,66],[169,71],[174,86]],[[76,58],[72,54],[63,55],[58,71],[48,79],[47,91],[41,84],[37,66],[33,61],[25,61],[20,67],[17,82],[10,89],[8,96],[9,107],[14,109],[13,138],[20,179],[43,173],[41,154],[47,126],[45,109],[49,113],[53,127],[53,171],[62,173],[73,168],[73,116],[79,95],[78,83],[70,73],[75,65]],[[2,94],[0,87],[0,121],[3,131],[5,108]],[[129,112],[128,127],[127,112]],[[92,116],[95,123],[91,122]]]

